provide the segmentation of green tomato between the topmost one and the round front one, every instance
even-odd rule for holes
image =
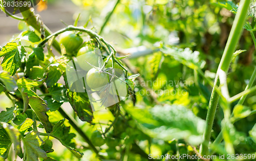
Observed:
[[[93,47],[82,47],[79,49],[79,51],[77,52],[77,62],[78,65],[81,67],[81,69],[85,70],[85,71],[89,71],[90,69],[92,69],[93,67],[90,65],[94,65],[96,67],[99,66],[99,56],[94,52],[94,48]],[[88,64],[88,63],[90,64]],[[102,62],[103,65],[103,62]]]

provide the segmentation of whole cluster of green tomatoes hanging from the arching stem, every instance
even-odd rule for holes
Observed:
[[[65,46],[66,54],[70,57],[76,57],[79,67],[87,72],[86,83],[92,91],[99,91],[105,85],[115,82],[115,86],[111,86],[109,89],[110,94],[117,93],[119,96],[125,97],[128,93],[127,89],[131,88],[130,86],[134,88],[133,82],[124,77],[124,70],[121,66],[115,63],[113,69],[112,58],[109,59],[108,64],[103,69],[100,68],[106,58],[102,60],[100,52],[97,52],[92,45],[83,46],[83,39],[75,32],[67,31],[60,34],[59,42]]]

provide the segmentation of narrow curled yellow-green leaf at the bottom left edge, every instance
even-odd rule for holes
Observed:
[[[18,155],[19,157],[23,157],[23,153],[22,153],[22,147],[20,146],[20,133],[19,131],[14,128],[12,125],[9,125],[7,123],[2,123],[4,129],[6,130],[6,132],[9,135],[9,138],[11,140],[11,142],[14,145],[14,150],[16,155]]]

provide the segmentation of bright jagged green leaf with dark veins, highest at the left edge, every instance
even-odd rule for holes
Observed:
[[[8,71],[11,75],[14,75],[21,65],[22,59],[25,57],[24,46],[17,46],[16,42],[7,43],[2,51],[0,51],[0,57],[5,57],[2,62],[3,70]]]

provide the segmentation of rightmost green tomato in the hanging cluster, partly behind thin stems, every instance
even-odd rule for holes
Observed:
[[[119,77],[123,81],[125,80],[124,77]],[[114,79],[112,83],[110,94],[112,95],[119,95],[121,97],[127,96],[127,86],[125,81],[121,81],[120,79]]]

